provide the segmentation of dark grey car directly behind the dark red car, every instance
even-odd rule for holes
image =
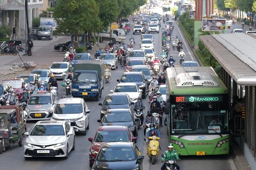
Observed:
[[[127,126],[134,136],[138,135],[138,121],[140,119],[134,116],[131,109],[109,109],[102,119],[97,120],[97,122],[101,122],[101,126]]]

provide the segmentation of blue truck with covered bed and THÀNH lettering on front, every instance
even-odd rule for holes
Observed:
[[[80,61],[74,65],[72,96],[99,101],[104,88],[104,62]]]

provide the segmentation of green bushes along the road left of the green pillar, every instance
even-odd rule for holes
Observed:
[[[189,38],[192,42],[194,41],[194,19],[189,19],[189,12],[186,11],[179,17],[179,23],[184,28],[185,34],[190,35]]]

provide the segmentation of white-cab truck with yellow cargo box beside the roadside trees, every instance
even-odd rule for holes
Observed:
[[[102,37],[103,40],[112,40],[112,42],[115,44],[116,42],[122,42],[125,41],[125,31],[123,29],[119,29],[117,23],[112,23],[108,27],[108,31],[104,31],[102,33],[99,33],[99,37]]]

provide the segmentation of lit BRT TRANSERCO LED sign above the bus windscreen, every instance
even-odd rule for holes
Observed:
[[[222,96],[176,96],[176,102],[222,102]]]

